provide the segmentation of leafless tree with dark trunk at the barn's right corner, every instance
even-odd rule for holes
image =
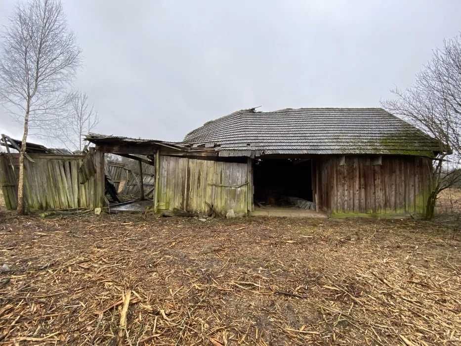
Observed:
[[[461,35],[445,40],[417,75],[413,87],[392,90],[396,99],[382,102],[391,113],[431,135],[439,149],[430,167],[425,218],[434,216],[439,193],[461,180]]]

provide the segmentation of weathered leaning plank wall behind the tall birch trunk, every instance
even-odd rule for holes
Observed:
[[[97,187],[101,155],[90,161],[94,166],[93,175],[85,183],[79,168],[84,163],[84,155],[29,154],[35,161],[24,160],[24,197],[28,210],[58,210],[74,208],[95,208],[101,206],[101,196]],[[14,171],[10,162],[14,166]],[[8,210],[17,207],[18,196],[18,155],[0,155],[0,186]],[[100,180],[100,179],[98,179]]]

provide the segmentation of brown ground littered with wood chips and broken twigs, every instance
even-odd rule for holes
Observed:
[[[1,215],[1,214],[0,214]],[[459,345],[459,219],[0,216],[0,344]]]

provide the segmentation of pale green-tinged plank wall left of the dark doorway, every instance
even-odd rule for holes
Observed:
[[[221,215],[229,209],[246,214],[251,210],[249,172],[246,163],[160,155],[157,208],[207,213],[208,202]]]

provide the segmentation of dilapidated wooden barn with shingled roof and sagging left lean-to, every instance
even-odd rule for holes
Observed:
[[[380,108],[240,110],[176,143],[87,139],[96,155],[140,154],[154,162],[157,212],[220,215],[423,213],[440,151],[436,140]]]

